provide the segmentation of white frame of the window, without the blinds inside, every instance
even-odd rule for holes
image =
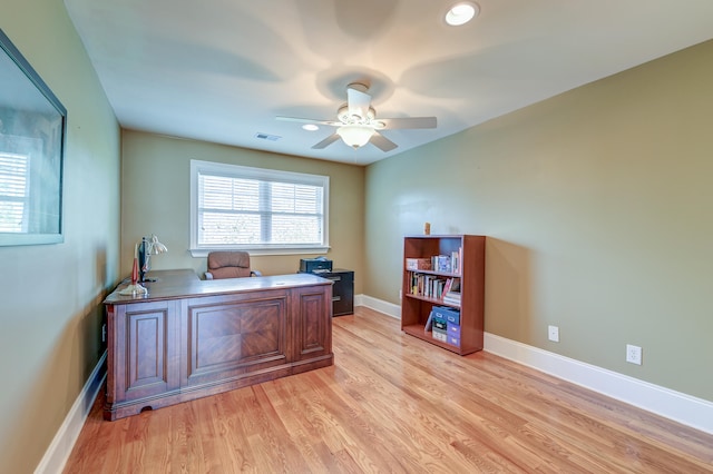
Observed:
[[[198,176],[216,175],[242,179],[260,179],[266,181],[303,184],[321,186],[322,200],[322,244],[229,244],[229,245],[198,245]],[[330,177],[304,172],[282,171],[268,168],[255,168],[241,165],[229,165],[214,161],[191,160],[191,255],[205,257],[216,250],[246,250],[251,255],[296,255],[324,254],[329,245],[329,196]]]

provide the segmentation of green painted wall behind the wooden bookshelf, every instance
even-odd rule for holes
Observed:
[[[712,85],[710,41],[370,166],[364,293],[486,235],[487,332],[713,401]]]

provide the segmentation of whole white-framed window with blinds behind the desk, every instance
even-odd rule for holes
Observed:
[[[329,177],[191,160],[191,249],[323,253]]]

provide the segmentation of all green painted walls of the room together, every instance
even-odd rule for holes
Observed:
[[[487,235],[489,333],[713,401],[713,42],[364,169],[121,136],[61,2],[4,0],[0,28],[69,116],[65,243],[0,247],[3,472],[35,470],[80,394],[135,241],[168,245],[157,269],[205,269],[187,253],[192,158],[329,175],[329,256],[356,271],[358,294],[391,303],[403,235],[424,221]],[[299,258],[254,266],[291,273]],[[643,366],[624,363],[627,343]]]

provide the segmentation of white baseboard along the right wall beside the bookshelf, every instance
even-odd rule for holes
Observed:
[[[361,306],[400,318],[401,307],[360,295]],[[359,306],[359,305],[358,305]],[[606,368],[516,340],[485,334],[484,349],[557,378],[628,403],[686,426],[713,434],[713,402],[696,398]]]

